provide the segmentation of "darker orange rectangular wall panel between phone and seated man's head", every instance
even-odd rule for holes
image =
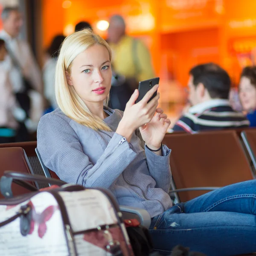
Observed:
[[[187,74],[195,64],[220,63],[218,28],[163,34],[160,41],[160,52],[169,53],[169,79],[175,79],[183,86],[186,86]]]

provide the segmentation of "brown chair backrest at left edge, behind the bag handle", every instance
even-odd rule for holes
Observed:
[[[0,163],[0,176],[3,175],[4,171],[34,174],[24,149],[20,147],[0,148]],[[37,183],[32,184],[38,188]],[[12,192],[13,195],[22,195],[30,191],[16,184],[12,184]],[[3,198],[3,196],[0,195],[0,198]]]

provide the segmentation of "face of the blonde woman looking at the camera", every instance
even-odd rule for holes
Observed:
[[[111,88],[111,63],[106,47],[95,44],[73,60],[67,82],[85,104],[103,102]]]

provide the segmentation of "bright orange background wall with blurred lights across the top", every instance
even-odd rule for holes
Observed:
[[[119,13],[126,19],[128,34],[141,37],[148,45],[162,80],[175,79],[183,86],[189,69],[206,61],[221,64],[237,84],[241,63],[234,45],[241,52],[253,48],[253,43],[244,47],[248,40],[256,47],[255,0],[73,0],[68,9],[61,7],[62,2],[43,1],[45,47],[54,35],[81,20],[95,27],[98,20]],[[142,18],[145,27],[138,22]],[[152,19],[153,26],[147,28]]]

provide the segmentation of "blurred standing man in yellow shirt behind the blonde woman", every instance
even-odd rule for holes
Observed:
[[[155,76],[151,56],[140,40],[125,34],[125,21],[120,15],[110,18],[107,41],[112,49],[113,73],[109,106],[124,111],[139,81]]]

